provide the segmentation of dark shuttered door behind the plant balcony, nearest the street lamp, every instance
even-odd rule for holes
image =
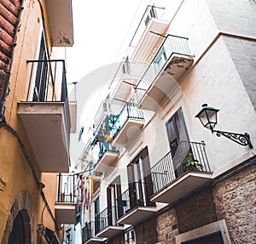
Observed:
[[[184,173],[182,162],[191,152],[189,134],[181,108],[166,123],[169,143],[171,147],[172,163],[177,177]]]

